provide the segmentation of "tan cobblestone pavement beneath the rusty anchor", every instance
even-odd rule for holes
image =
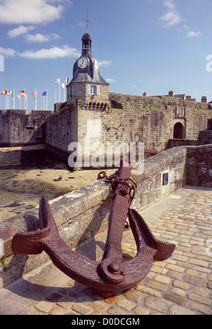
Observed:
[[[179,195],[172,197],[177,199]],[[211,314],[212,190],[191,190],[182,202],[179,197],[174,207],[156,219],[147,220],[147,223],[156,238],[175,243],[176,249],[169,259],[153,262],[151,272],[134,289],[103,298],[93,289],[74,282],[48,262],[1,289],[0,313],[107,316]],[[83,250],[78,252],[87,250],[93,257],[95,251],[98,255],[104,248],[102,233],[93,242],[85,243]],[[122,250],[125,258],[136,255],[131,231],[124,232]]]

